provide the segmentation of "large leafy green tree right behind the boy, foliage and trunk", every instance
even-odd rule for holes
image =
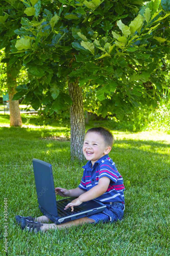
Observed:
[[[81,156],[81,88],[89,82],[103,117],[109,113],[121,120],[139,104],[157,106],[160,61],[165,63],[169,53],[167,0],[144,6],[133,0],[21,1],[25,15],[10,51],[34,78],[17,87],[14,99],[25,95],[34,109],[43,105],[50,114],[69,104],[72,155]]]

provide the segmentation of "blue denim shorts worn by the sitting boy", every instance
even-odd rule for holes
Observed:
[[[95,222],[92,224],[96,224],[98,222],[110,222],[112,223],[113,221],[121,220],[123,217],[123,211],[124,211],[124,204],[119,203],[119,202],[106,202],[103,203],[106,205],[106,208],[104,211],[89,215],[89,219],[93,219]]]

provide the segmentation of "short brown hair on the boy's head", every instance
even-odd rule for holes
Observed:
[[[96,132],[100,134],[103,137],[104,143],[106,146],[111,146],[113,145],[114,142],[114,137],[113,134],[109,131],[109,129],[104,128],[104,127],[93,127],[87,130],[86,134],[89,132]],[[85,136],[86,136],[85,134]]]

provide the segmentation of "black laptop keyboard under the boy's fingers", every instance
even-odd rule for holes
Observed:
[[[63,216],[69,216],[75,213],[82,212],[83,210],[79,208],[78,206],[74,206],[74,211],[71,211],[71,208],[69,207],[67,210],[64,210],[65,206],[69,203],[70,201],[68,199],[63,199],[61,201],[57,201],[57,211],[59,214]]]

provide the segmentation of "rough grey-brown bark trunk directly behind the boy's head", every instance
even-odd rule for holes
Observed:
[[[78,79],[73,83],[68,79],[68,89],[73,102],[70,106],[71,159],[84,160],[82,151],[85,135],[84,109],[82,89],[79,87]]]

